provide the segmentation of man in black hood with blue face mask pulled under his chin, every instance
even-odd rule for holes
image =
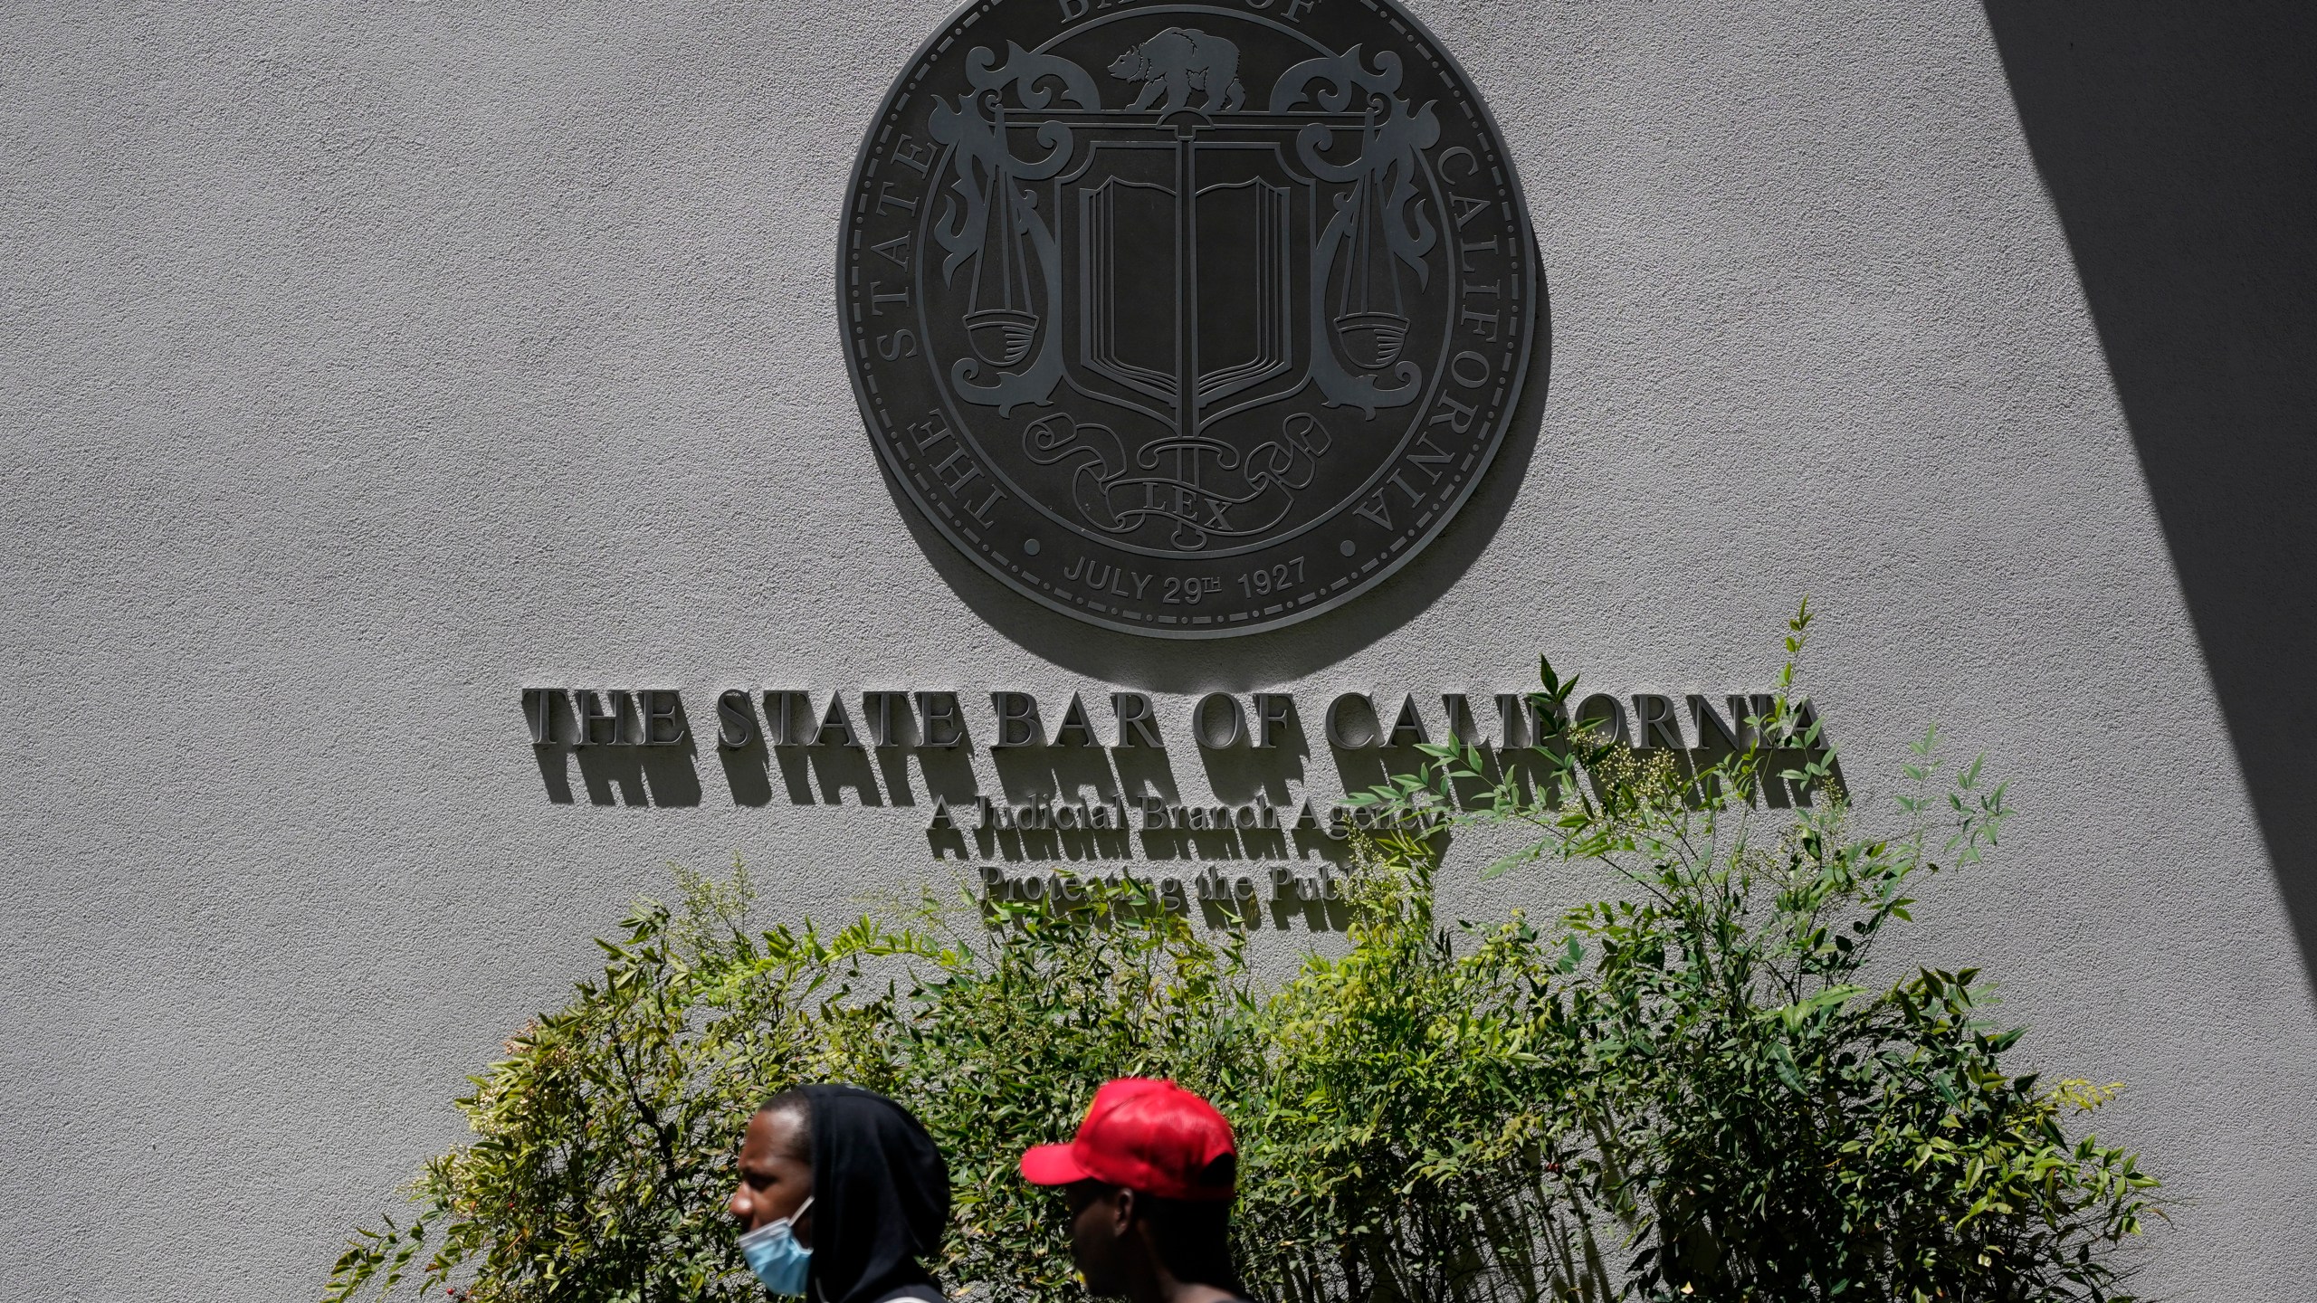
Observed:
[[[945,1303],[922,1259],[950,1220],[950,1166],[883,1094],[804,1085],[765,1101],[728,1203],[748,1268],[809,1303]]]

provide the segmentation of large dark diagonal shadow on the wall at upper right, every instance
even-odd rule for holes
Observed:
[[[2317,974],[2317,9],[1986,14]]]

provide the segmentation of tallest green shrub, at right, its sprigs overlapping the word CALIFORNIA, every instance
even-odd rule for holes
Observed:
[[[1594,862],[1629,890],[1566,916],[1592,964],[1522,1013],[1552,1025],[1564,1215],[1610,1210],[1643,1298],[2122,1298],[2111,1250],[2155,1213],[2136,1157],[2069,1115],[2115,1085],[2011,1076],[2023,1029],[1988,1022],[1976,969],[1865,983],[1918,881],[1972,865],[2009,816],[1981,763],[1932,793],[1937,730],[1902,765],[1893,828],[1854,809],[1786,665],[1745,744],[1712,763],[1610,744],[1569,721],[1541,665],[1541,747],[1504,772],[1471,747],[1362,793],[1379,809],[1534,832],[1488,872]],[[1471,791],[1478,786],[1481,791]]]

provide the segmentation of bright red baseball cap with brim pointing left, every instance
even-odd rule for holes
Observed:
[[[1240,1150],[1212,1104],[1145,1076],[1105,1080],[1068,1145],[1022,1155],[1031,1185],[1108,1180],[1158,1199],[1230,1199]]]

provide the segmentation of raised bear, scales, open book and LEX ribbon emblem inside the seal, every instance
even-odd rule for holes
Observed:
[[[1209,77],[1237,67],[1198,30],[1163,44]],[[931,116],[955,179],[941,301],[971,343],[950,362],[957,401],[1061,403],[1015,417],[1022,452],[1068,473],[1077,524],[1128,545],[1293,526],[1332,447],[1325,408],[1374,420],[1423,390],[1402,285],[1425,283],[1437,239],[1418,192],[1430,107],[1358,51],[1284,70],[1267,109],[1235,77],[1205,104],[1186,79],[1163,104],[1103,109],[1075,63],[975,60],[975,95]]]

